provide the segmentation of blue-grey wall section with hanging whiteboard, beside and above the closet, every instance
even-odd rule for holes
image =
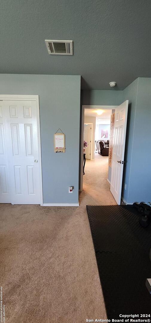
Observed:
[[[39,95],[44,203],[78,203],[80,79],[0,74],[0,94]],[[60,154],[54,153],[58,128],[65,133],[66,152]]]

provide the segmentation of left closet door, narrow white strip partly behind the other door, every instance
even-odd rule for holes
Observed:
[[[0,101],[0,203],[11,203],[3,101]]]

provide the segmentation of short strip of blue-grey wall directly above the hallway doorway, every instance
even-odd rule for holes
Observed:
[[[81,92],[82,105],[119,105],[123,99],[123,91],[119,90],[82,90]]]

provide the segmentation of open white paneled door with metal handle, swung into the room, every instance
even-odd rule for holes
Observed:
[[[118,205],[121,203],[127,111],[128,100],[119,105],[115,112],[110,190]]]

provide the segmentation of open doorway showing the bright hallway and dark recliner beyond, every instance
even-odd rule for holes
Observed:
[[[108,166],[112,112],[115,112],[115,107],[84,107],[83,153],[86,161],[83,172],[85,174],[83,175],[83,190],[100,203],[104,199],[105,203],[107,201],[116,204],[110,193]]]

